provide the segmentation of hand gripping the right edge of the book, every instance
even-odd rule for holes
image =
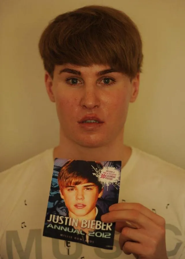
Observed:
[[[133,254],[137,259],[167,259],[165,220],[145,206],[126,202],[113,204],[101,220],[116,222],[119,245],[125,254]]]

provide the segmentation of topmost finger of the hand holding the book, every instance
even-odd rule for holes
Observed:
[[[118,210],[136,210],[152,220],[157,225],[164,225],[164,218],[159,216],[158,214],[152,212],[147,207],[143,206],[140,203],[128,203],[128,202],[121,202],[115,203],[109,207],[109,211],[118,211]]]

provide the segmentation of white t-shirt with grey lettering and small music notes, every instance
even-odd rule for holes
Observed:
[[[105,250],[43,237],[53,148],[0,173],[0,255],[2,259],[135,259],[119,248]],[[185,171],[132,148],[122,169],[119,202],[141,203],[166,220],[170,259],[185,258]]]

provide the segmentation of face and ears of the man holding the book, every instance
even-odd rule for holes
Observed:
[[[65,70],[64,70],[65,69]],[[104,146],[123,136],[129,102],[137,98],[139,74],[130,79],[110,66],[55,66],[46,72],[50,99],[56,103],[63,137],[84,147]]]

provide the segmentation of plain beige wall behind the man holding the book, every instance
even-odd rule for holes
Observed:
[[[89,4],[126,12],[143,38],[140,93],[130,105],[125,143],[185,168],[184,0],[1,0],[0,171],[58,143],[38,41],[55,16]]]

